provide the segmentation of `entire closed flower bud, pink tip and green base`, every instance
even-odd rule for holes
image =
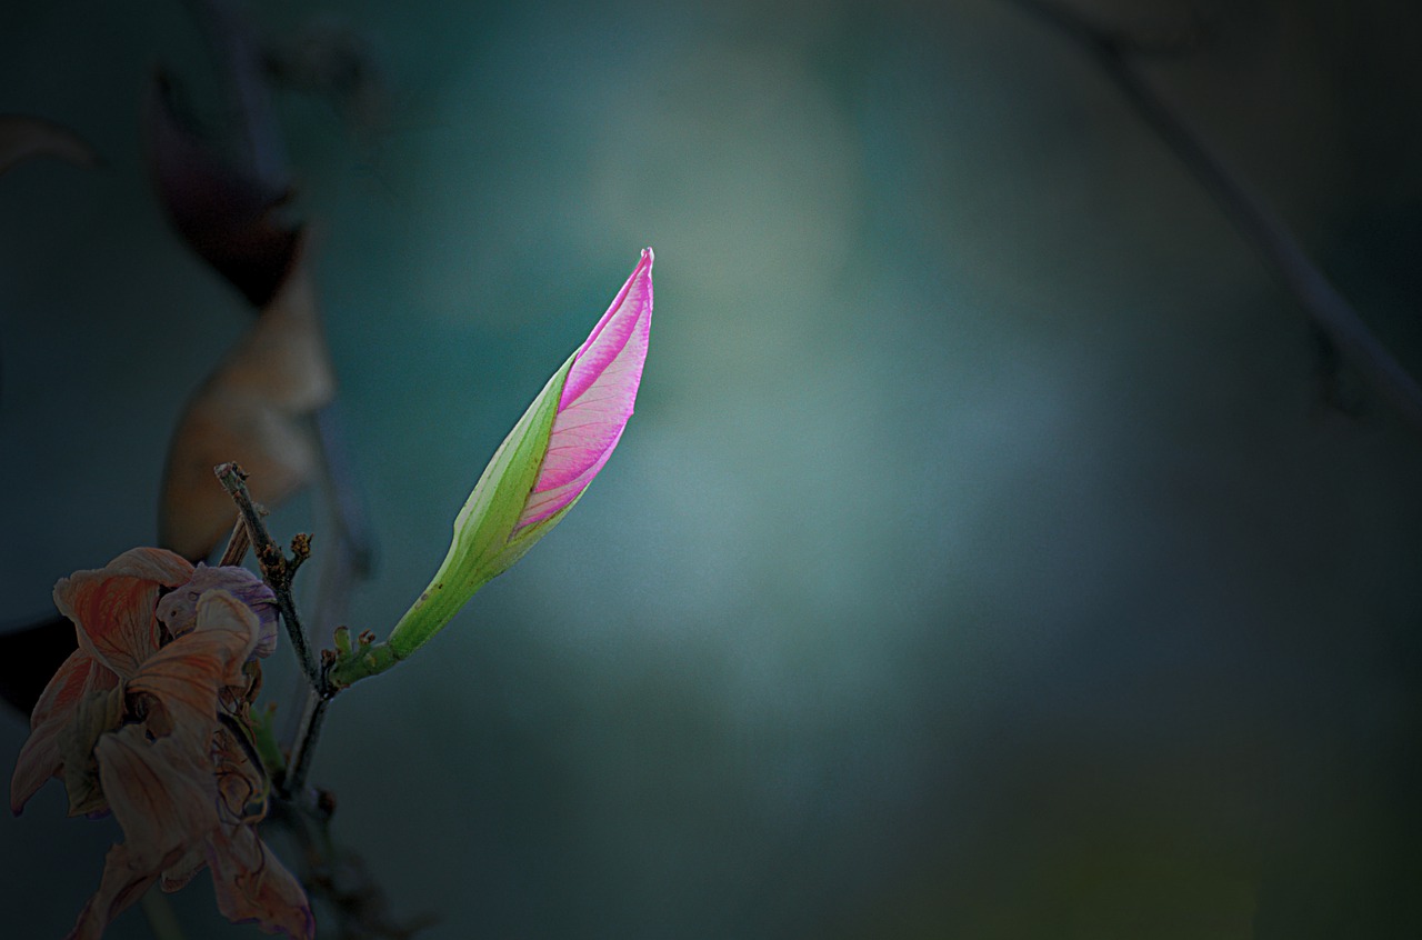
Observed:
[[[454,523],[444,565],[390,634],[405,658],[523,557],[593,482],[631,417],[651,329],[651,249],[503,439]],[[337,675],[337,680],[340,677]]]

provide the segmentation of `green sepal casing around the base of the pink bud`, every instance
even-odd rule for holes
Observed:
[[[454,542],[444,563],[385,641],[395,660],[405,658],[428,643],[475,592],[523,557],[533,542],[567,511],[565,506],[510,538],[533,492],[533,484],[538,482],[553,432],[553,418],[557,417],[557,402],[572,367],[573,357],[569,356],[483,469],[454,520]]]

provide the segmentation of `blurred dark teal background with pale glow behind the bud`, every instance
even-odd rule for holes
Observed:
[[[1145,73],[1422,374],[1422,13],[1072,6],[1207,26]],[[276,97],[380,543],[353,627],[388,631],[657,252],[637,414],[587,498],[331,707],[313,782],[397,914],[1422,931],[1422,439],[1079,46],[1010,0],[247,11],[290,61],[357,63]],[[102,158],[0,178],[3,624],[155,540],[183,402],[252,321],[154,196],[159,64],[220,128],[182,4],[0,10],[0,111]],[[320,518],[270,525],[320,553]],[[0,712],[7,772],[27,730]],[[118,836],[57,784],[3,815],[7,936],[63,936]],[[256,936],[205,877],[175,907]],[[135,909],[108,936],[151,934]]]

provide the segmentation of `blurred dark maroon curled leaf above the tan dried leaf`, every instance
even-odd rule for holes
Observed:
[[[300,226],[280,218],[290,191],[223,161],[182,117],[166,75],[154,78],[145,124],[158,196],[178,232],[255,307],[272,303],[300,245]]]

